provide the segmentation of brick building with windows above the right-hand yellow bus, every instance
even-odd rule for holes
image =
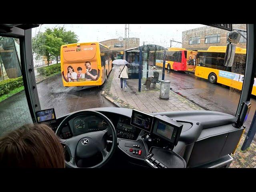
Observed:
[[[246,24],[233,24],[233,29],[246,30]],[[182,32],[182,48],[187,50],[207,50],[210,46],[226,46],[229,31],[204,26]],[[246,32],[242,32],[246,36]],[[246,40],[241,36],[236,46],[246,48]]]

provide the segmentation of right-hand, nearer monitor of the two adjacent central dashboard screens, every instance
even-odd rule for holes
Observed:
[[[153,134],[167,140],[174,146],[177,145],[183,124],[173,121],[170,118],[156,115],[154,116]]]

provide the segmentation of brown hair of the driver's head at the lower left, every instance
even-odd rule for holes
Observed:
[[[0,138],[0,167],[64,168],[64,152],[46,124],[26,124]]]

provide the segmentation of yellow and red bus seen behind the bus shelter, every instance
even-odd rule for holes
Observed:
[[[163,67],[163,51],[156,52],[156,65]],[[196,68],[196,51],[184,48],[169,48],[166,51],[165,68],[176,71],[194,71]]]

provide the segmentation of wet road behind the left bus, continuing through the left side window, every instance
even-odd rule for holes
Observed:
[[[55,108],[59,118],[70,112],[115,105],[101,96],[102,86],[84,89],[64,87],[60,75],[53,76],[37,84],[41,109]],[[32,123],[25,92],[0,102],[0,135],[26,123]]]

